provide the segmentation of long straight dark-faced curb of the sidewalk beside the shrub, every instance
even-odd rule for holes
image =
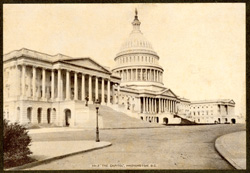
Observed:
[[[10,169],[5,169],[5,171],[12,171],[12,170],[14,171],[14,170],[22,170],[22,169],[32,168],[32,167],[35,167],[35,166],[38,166],[38,165],[41,165],[41,164],[45,164],[45,163],[50,163],[52,161],[62,159],[62,158],[68,157],[68,156],[73,156],[73,155],[80,154],[80,153],[86,153],[86,152],[89,152],[89,151],[94,151],[94,150],[106,148],[106,147],[109,147],[111,145],[112,145],[112,143],[109,143],[109,144],[101,146],[101,147],[94,147],[94,148],[83,150],[83,151],[77,151],[77,152],[74,152],[74,153],[69,153],[69,154],[65,154],[65,155],[61,155],[61,156],[50,157],[50,158],[47,158],[47,159],[44,159],[44,160],[31,162],[31,163],[28,163],[28,164],[25,164],[25,165],[22,165],[22,166],[17,166],[17,167],[10,168]]]

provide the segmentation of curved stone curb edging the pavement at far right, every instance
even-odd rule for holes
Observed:
[[[234,132],[234,133],[238,133],[238,132]],[[232,133],[229,133],[229,134],[232,134]],[[229,134],[226,134],[226,135],[229,135]],[[239,170],[245,169],[245,168],[240,167],[237,163],[235,163],[235,161],[230,157],[231,154],[223,146],[223,136],[226,136],[226,135],[222,135],[215,140],[215,149],[217,150],[219,155],[224,160],[226,160],[230,165],[232,165],[235,169],[239,169]]]

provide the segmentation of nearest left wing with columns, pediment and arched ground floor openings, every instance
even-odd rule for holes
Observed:
[[[95,100],[115,104],[120,78],[91,58],[21,49],[6,54],[4,63],[4,83],[11,84],[4,90],[5,112],[13,122],[75,126],[88,120]]]

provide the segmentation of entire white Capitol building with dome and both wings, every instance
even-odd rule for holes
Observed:
[[[52,56],[29,49],[5,54],[4,117],[22,124],[94,126],[90,107],[98,99],[101,105],[151,123],[179,124],[182,119],[236,123],[233,100],[190,102],[164,86],[160,57],[140,24],[136,11],[133,30],[111,71],[89,57]],[[202,105],[198,112],[195,105]]]

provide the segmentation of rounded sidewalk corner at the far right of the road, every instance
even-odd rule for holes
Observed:
[[[236,169],[246,169],[246,131],[217,138],[215,148]]]

